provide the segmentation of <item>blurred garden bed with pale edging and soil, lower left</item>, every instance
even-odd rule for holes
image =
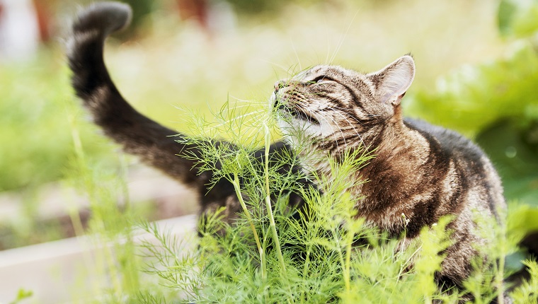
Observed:
[[[193,191],[142,165],[128,172],[130,208],[139,209],[142,220],[156,221],[181,239],[194,235],[198,197]],[[69,209],[78,212],[86,232],[91,218],[88,199],[59,182],[40,187],[31,199],[35,203],[29,212],[28,194],[0,196],[0,303],[11,303],[22,290],[33,293],[32,303],[64,303],[91,299],[108,288],[110,273],[100,259],[122,241],[104,245],[99,236],[76,236]],[[134,235],[135,246],[151,240],[141,230]]]

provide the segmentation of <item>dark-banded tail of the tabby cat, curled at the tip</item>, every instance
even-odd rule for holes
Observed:
[[[161,169],[185,184],[204,181],[193,170],[193,161],[178,157],[185,148],[175,131],[141,115],[125,101],[115,87],[103,61],[106,37],[130,23],[131,8],[117,2],[99,2],[79,13],[67,40],[67,58],[73,71],[76,95],[93,115],[106,135],[149,165]],[[192,151],[191,151],[192,153]],[[205,177],[207,178],[207,177]]]

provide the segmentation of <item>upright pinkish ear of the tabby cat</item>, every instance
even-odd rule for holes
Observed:
[[[409,55],[402,56],[367,77],[376,86],[377,98],[382,103],[398,105],[415,78],[415,62]]]

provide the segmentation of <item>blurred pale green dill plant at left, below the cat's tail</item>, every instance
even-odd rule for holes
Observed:
[[[80,294],[76,300],[91,303],[130,303],[141,286],[132,223],[137,212],[132,208],[125,182],[125,156],[117,159],[117,167],[103,165],[88,156],[76,127],[80,114],[74,105],[66,103],[65,111],[71,127],[74,149],[66,170],[65,186],[76,189],[89,202],[91,217],[85,227],[77,206],[69,205],[69,216],[77,236],[86,235],[84,266],[88,274],[103,279],[92,280],[91,296]],[[118,178],[118,175],[120,178]],[[121,204],[122,203],[122,204]],[[86,276],[87,274],[79,274]],[[75,282],[71,288],[76,288]]]

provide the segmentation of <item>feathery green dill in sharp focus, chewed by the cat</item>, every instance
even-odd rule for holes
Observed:
[[[390,239],[368,226],[354,208],[360,198],[346,192],[368,182],[349,178],[374,157],[362,149],[329,159],[331,177],[310,176],[318,189],[297,187],[306,176],[278,170],[297,166],[294,155],[269,151],[277,132],[272,107],[251,111],[226,103],[214,113],[217,122],[192,116],[190,129],[198,134],[179,141],[198,149],[183,151],[183,157],[196,160],[200,172],[211,170],[212,182],[229,180],[243,213],[234,225],[220,221],[223,209],[205,214],[198,247],[142,224],[159,240],[144,243],[147,272],[160,278],[168,294],[162,289],[139,293],[142,303],[458,303],[469,295],[476,303],[504,303],[510,274],[504,260],[517,243],[507,238],[507,226],[478,215],[477,221],[488,224],[488,243],[476,248],[488,259],[476,258],[462,290],[438,288],[435,275],[451,245],[451,218],[423,228],[413,240]],[[260,130],[262,136],[256,136]],[[229,141],[210,140],[222,134],[231,136]],[[302,195],[306,208],[287,208],[290,191]],[[513,298],[525,299],[517,303],[527,303],[537,283],[536,262],[525,264],[532,279],[512,291]]]

